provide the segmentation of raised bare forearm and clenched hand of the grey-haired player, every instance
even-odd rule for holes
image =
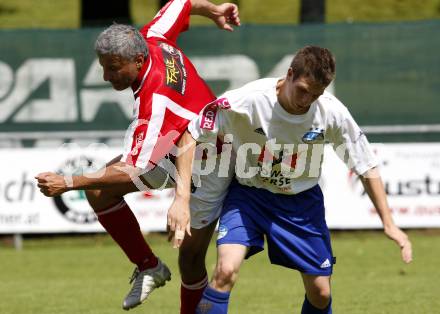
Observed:
[[[191,0],[191,14],[210,18],[220,29],[233,31],[240,26],[238,7],[234,3],[213,4],[207,0]]]

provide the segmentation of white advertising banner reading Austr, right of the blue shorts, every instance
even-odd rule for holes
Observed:
[[[440,227],[440,144],[374,144],[388,203],[404,228]],[[380,218],[359,178],[331,147],[325,153],[321,186],[330,228],[378,228]]]

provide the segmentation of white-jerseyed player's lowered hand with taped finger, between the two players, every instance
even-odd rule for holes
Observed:
[[[185,234],[191,236],[189,203],[178,197],[174,198],[173,204],[167,214],[168,241],[172,242],[173,248],[182,245]]]

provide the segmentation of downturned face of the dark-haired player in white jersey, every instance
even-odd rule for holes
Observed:
[[[290,109],[288,112],[293,114],[306,113],[312,103],[324,93],[326,87],[303,76],[293,80],[293,72],[289,69],[286,78],[286,98]]]

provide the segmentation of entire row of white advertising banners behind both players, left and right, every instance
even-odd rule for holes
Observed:
[[[406,228],[440,227],[440,144],[375,144],[396,223]],[[330,228],[379,228],[380,219],[357,176],[330,147],[321,186]],[[34,176],[53,171],[91,172],[119,155],[105,146],[1,150],[0,233],[102,232],[83,191],[43,196]],[[126,196],[144,231],[165,231],[173,190]]]

